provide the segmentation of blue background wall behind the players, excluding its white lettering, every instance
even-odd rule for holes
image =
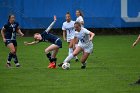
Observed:
[[[65,13],[75,20],[75,11],[84,13],[85,27],[114,28],[140,27],[140,22],[124,22],[121,18],[121,0],[0,0],[0,27],[9,14],[15,14],[21,28],[46,28],[57,15],[55,28],[61,28]],[[128,16],[137,17],[140,0],[128,0]]]

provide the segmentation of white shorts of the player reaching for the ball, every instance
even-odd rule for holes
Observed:
[[[78,46],[81,47],[84,52],[86,53],[92,53],[93,52],[93,43],[87,44],[87,45],[83,45],[81,43],[78,43]]]

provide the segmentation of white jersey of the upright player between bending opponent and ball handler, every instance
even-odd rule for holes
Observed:
[[[75,30],[74,30],[74,23],[75,21],[70,21],[70,22],[64,22],[62,26],[62,30],[65,30],[67,33],[67,41],[74,38],[75,35]]]

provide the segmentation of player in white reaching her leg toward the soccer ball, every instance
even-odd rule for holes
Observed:
[[[83,51],[82,57],[81,57],[81,69],[86,68],[86,60],[88,56],[92,53],[93,51],[93,37],[95,36],[94,33],[90,32],[86,28],[81,27],[81,23],[75,22],[74,28],[76,30],[75,37],[74,37],[74,42],[75,39],[78,38],[78,46],[74,50],[74,52],[69,55],[63,63],[69,62],[73,57],[77,56],[81,51]],[[63,65],[63,63],[61,65]]]

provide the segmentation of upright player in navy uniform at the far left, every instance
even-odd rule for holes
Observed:
[[[19,28],[18,22],[15,22],[15,16],[9,15],[8,22],[3,26],[1,30],[3,42],[5,43],[5,46],[10,49],[10,52],[7,58],[7,64],[6,64],[7,67],[11,67],[10,62],[12,58],[14,59],[14,63],[16,67],[20,67],[20,64],[18,62],[18,58],[16,55],[16,52],[17,52],[16,33],[19,33],[21,36],[24,36],[24,34],[21,32]]]

